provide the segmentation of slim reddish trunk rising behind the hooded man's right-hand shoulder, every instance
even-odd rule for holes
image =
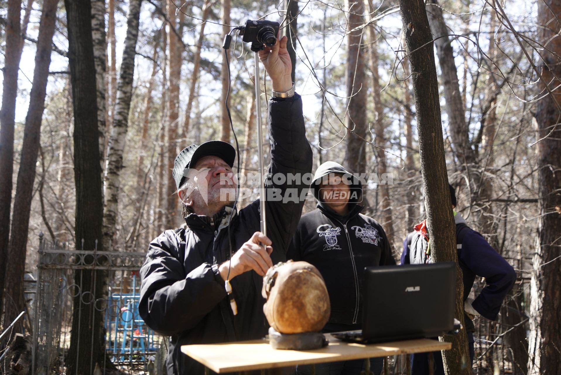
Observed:
[[[374,17],[374,6],[371,0],[365,0],[368,6],[370,17]],[[380,100],[380,74],[378,72],[378,42],[376,38],[376,30],[374,29],[375,21],[370,21],[368,27],[368,36],[370,40],[370,70],[372,71],[372,99],[374,101],[374,134],[376,139],[374,144],[374,152],[378,156],[378,178],[380,181],[384,180],[384,175],[387,172],[386,158],[385,158],[385,123],[384,123],[384,108]],[[361,171],[362,172],[362,171]],[[366,171],[364,171],[366,172]],[[377,190],[380,194],[381,205],[381,218],[379,220],[384,227],[388,242],[393,244],[394,234],[392,225],[392,203],[389,199],[389,185],[379,184]]]

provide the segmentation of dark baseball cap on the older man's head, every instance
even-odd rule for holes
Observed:
[[[218,140],[208,141],[200,146],[192,144],[184,148],[173,162],[172,176],[176,181],[177,189],[185,181],[183,170],[194,167],[197,161],[205,156],[217,156],[230,167],[233,167],[234,160],[236,159],[236,150],[231,144]]]

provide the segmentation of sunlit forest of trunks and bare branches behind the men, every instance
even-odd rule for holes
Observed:
[[[7,296],[17,305],[22,299],[17,284],[24,272],[36,271],[40,232],[53,243],[84,246],[75,219],[76,129],[66,10],[71,3],[0,2],[4,327],[18,310]],[[430,88],[413,90],[404,35],[415,33],[415,25],[402,24],[397,1],[91,4],[96,87],[89,90],[98,104],[104,186],[100,248],[145,251],[160,232],[181,225],[171,168],[177,152],[189,144],[222,139],[235,145],[237,138],[239,172],[257,171],[254,56],[241,37],[234,37],[228,52],[232,132],[224,106],[228,75],[222,40],[233,26],[263,17],[282,22],[290,36],[293,79],[305,103],[315,167],[333,160],[379,179],[390,176],[390,184],[369,181],[364,213],[384,226],[399,258],[407,232],[424,218],[415,95],[428,95]],[[477,320],[477,371],[559,373],[561,298],[551,286],[561,281],[561,107],[555,91],[561,4],[429,0],[426,11],[457,211],[518,276],[499,321]],[[16,22],[16,36],[22,35],[17,43]],[[18,49],[21,58],[14,54]],[[549,67],[542,70],[544,61]],[[261,111],[266,113],[270,84],[263,78]],[[258,186],[250,187],[257,192]],[[88,204],[85,199],[81,202]],[[314,208],[309,201],[304,212]],[[557,349],[540,355],[539,342]]]

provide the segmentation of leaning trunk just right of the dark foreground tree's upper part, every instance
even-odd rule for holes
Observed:
[[[436,5],[436,0],[430,0],[426,7],[430,20],[430,29],[434,38],[450,34],[442,17],[442,9]],[[454,50],[448,36],[436,39],[436,53],[441,71],[442,85],[444,86],[444,98],[446,98],[446,114],[450,126],[452,143],[456,150],[456,156],[461,164],[472,164],[475,162],[475,154],[470,145],[466,125],[465,107],[462,103],[462,95],[459,90],[458,70],[454,62]]]

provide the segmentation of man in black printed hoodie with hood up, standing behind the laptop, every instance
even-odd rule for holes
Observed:
[[[364,268],[396,264],[381,225],[360,213],[362,184],[341,164],[325,162],[311,184],[318,209],[302,216],[288,249],[287,259],[305,260],[317,267],[325,280],[331,315],[324,332],[360,330]],[[381,372],[382,359],[370,360]],[[364,360],[316,365],[316,374],[359,374]],[[298,366],[297,374],[311,373]]]

